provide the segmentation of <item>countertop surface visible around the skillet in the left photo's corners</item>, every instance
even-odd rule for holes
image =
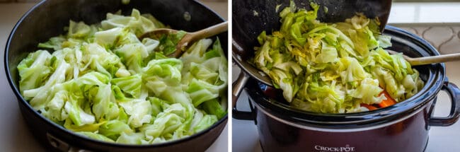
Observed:
[[[227,18],[226,2],[203,2],[209,8],[217,10],[222,17]],[[16,102],[16,96],[4,74],[4,48],[11,29],[19,18],[34,4],[1,4],[0,3],[0,151],[46,151],[35,141],[21,116]],[[228,126],[225,127],[217,141],[207,151],[227,151]]]

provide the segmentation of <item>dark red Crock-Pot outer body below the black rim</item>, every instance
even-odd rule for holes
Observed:
[[[412,117],[388,126],[355,131],[318,131],[294,127],[257,108],[257,127],[264,151],[423,151],[428,141],[430,104]],[[361,131],[360,131],[361,130]]]

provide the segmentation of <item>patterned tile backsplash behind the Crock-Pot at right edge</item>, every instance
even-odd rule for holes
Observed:
[[[458,25],[397,25],[415,33],[436,47],[441,54],[460,52],[460,23]]]

